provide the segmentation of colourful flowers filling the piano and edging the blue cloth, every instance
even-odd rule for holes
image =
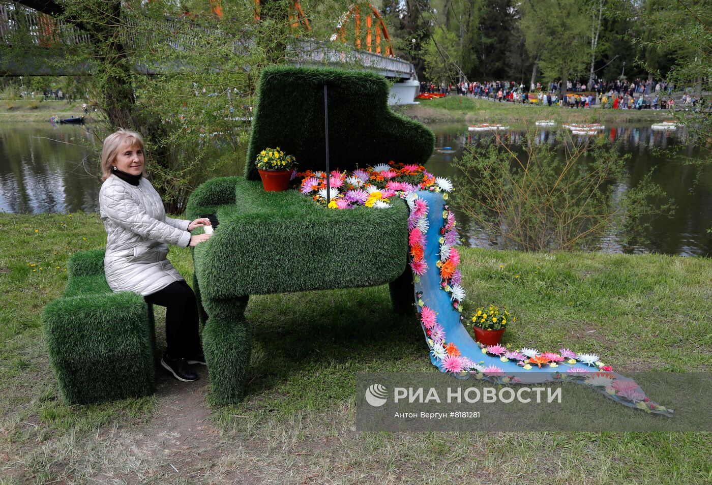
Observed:
[[[326,177],[325,172],[301,172],[300,191],[313,197],[315,202],[326,204]],[[452,183],[442,177],[426,172],[422,165],[379,164],[374,167],[357,169],[351,174],[337,170],[329,174],[330,184],[330,209],[352,209],[359,206],[387,209],[392,207],[389,199],[400,197],[405,199],[410,209],[408,217],[408,245],[409,264],[414,274],[414,281],[424,276],[429,269],[424,258],[426,248],[426,234],[429,227],[429,206],[425,199],[419,197],[418,190],[439,192],[444,200],[449,199],[449,192],[453,190]],[[462,303],[465,300],[465,290],[461,286],[462,274],[458,269],[461,262],[459,250],[459,236],[456,231],[455,215],[448,205],[444,205],[443,224],[439,237],[439,259],[435,266],[439,270],[440,288],[445,291],[455,311],[462,312]],[[477,379],[488,379],[492,382],[507,383],[520,382],[517,377],[506,376],[505,371],[496,365],[484,366],[484,361],[479,363],[462,355],[457,345],[447,341],[444,327],[437,321],[437,313],[426,306],[422,291],[416,293],[417,306],[422,330],[430,349],[430,355],[443,372],[451,372],[466,377],[473,375]],[[460,315],[460,320],[464,317]],[[662,405],[651,402],[643,390],[633,381],[619,378],[612,372],[612,367],[604,365],[598,355],[594,353],[575,353],[570,349],[561,348],[555,352],[540,352],[535,348],[520,348],[508,350],[502,345],[483,345],[478,343],[481,352],[492,358],[499,358],[503,363],[515,361],[522,370],[533,370],[548,367],[552,369],[554,380],[567,380],[577,382],[588,387],[597,388],[616,400],[627,405],[639,407],[647,412],[672,414],[672,410]],[[565,372],[559,372],[560,365],[585,364],[592,367],[568,367]]]

